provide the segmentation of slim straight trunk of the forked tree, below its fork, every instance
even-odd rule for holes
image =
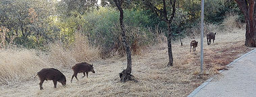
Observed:
[[[168,41],[168,56],[169,56],[169,63],[168,66],[173,66],[173,57],[172,57],[172,29],[171,29],[171,23],[167,24],[168,26],[168,36],[167,36],[167,41]]]

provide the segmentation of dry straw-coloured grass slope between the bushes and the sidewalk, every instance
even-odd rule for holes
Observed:
[[[40,57],[31,55],[33,52],[29,50],[1,51],[0,66],[13,65],[8,66],[10,68],[5,68],[5,71],[9,72],[13,69],[18,71],[20,67],[20,69],[28,67],[30,75],[21,75],[20,79],[28,76],[27,80],[23,82],[18,82],[17,79],[7,85],[2,84],[0,96],[187,96],[211,75],[217,74],[217,69],[222,69],[224,65],[250,50],[250,48],[243,46],[245,30],[217,33],[215,43],[211,45],[207,45],[204,38],[205,75],[199,78],[197,76],[200,70],[200,48],[197,47],[197,51],[190,53],[190,40],[190,38],[182,40],[183,46],[180,46],[180,42],[172,44],[174,67],[166,67],[168,63],[166,43],[144,49],[140,55],[133,55],[132,75],[136,77],[138,82],[120,83],[118,73],[126,67],[126,57],[113,57],[107,60],[93,61],[96,73],[89,73],[89,78],[84,77],[82,79],[82,74],[79,74],[78,79],[80,81],[74,79],[72,84],[70,83],[72,70],[59,67],[67,77],[67,86],[63,87],[58,83],[55,89],[53,88],[53,82],[48,81],[43,84],[45,90],[39,90],[39,79],[32,78],[32,74],[36,73],[41,67],[51,66],[45,65],[46,62],[53,63],[53,66],[58,65],[57,63],[45,59],[42,61]],[[195,40],[199,41],[199,38],[195,37]],[[54,51],[57,53],[54,54],[56,59],[70,61],[65,62],[65,65],[70,66],[78,62],[76,57],[67,53],[66,50],[56,49],[59,50],[59,52]],[[15,55],[10,55],[10,53]],[[77,53],[80,52],[77,51]],[[16,63],[19,63],[19,65],[16,66]],[[1,68],[1,70],[3,69]],[[16,77],[13,79],[16,79]]]

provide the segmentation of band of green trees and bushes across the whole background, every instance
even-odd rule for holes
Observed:
[[[74,1],[74,3],[72,2]],[[109,2],[109,3],[108,3]],[[161,10],[162,1],[153,1]],[[103,0],[98,7],[96,1],[75,0],[1,0],[0,27],[5,27],[6,44],[17,44],[27,48],[43,48],[49,42],[61,41],[69,46],[76,32],[82,32],[91,44],[101,46],[103,53],[122,48],[119,11],[111,0]],[[169,1],[167,1],[169,3]],[[128,42],[136,40],[140,46],[152,44],[158,34],[167,32],[167,24],[154,11],[145,7],[143,1],[124,1],[124,24]],[[170,10],[168,6],[168,11]],[[186,29],[198,25],[201,0],[179,0],[172,22],[172,39],[186,35]],[[226,14],[235,13],[243,20],[238,5],[232,0],[206,0],[205,21],[220,24]],[[170,16],[170,15],[168,15]],[[118,45],[118,47],[116,46]]]

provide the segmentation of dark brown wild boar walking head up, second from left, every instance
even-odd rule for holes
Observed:
[[[91,65],[89,63],[77,63],[76,65],[74,65],[72,67],[72,69],[74,71],[74,74],[72,75],[71,83],[72,83],[73,77],[76,77],[76,79],[78,80],[78,78],[77,78],[78,73],[84,73],[84,76],[85,76],[85,73],[86,73],[86,77],[88,77],[88,72],[89,71],[95,73],[95,71],[93,69],[93,65]],[[82,77],[84,77],[84,76],[82,76]]]

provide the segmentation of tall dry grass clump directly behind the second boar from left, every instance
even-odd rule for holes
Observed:
[[[49,55],[44,57],[49,63],[59,65],[61,68],[69,68],[74,63],[93,62],[100,59],[101,49],[89,44],[86,36],[76,33],[74,43],[65,46],[61,42],[49,44]]]

